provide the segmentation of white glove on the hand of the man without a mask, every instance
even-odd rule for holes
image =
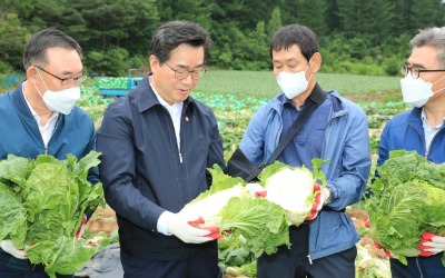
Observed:
[[[214,238],[207,237],[211,231],[190,225],[197,219],[198,217],[190,217],[180,212],[171,214],[167,221],[167,232],[175,235],[186,244],[204,244],[214,240]]]

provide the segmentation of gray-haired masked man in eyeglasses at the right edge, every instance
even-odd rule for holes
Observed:
[[[411,44],[400,85],[403,100],[414,108],[385,126],[377,166],[396,149],[417,151],[435,163],[445,162],[445,27],[421,30]],[[407,258],[407,266],[390,259],[394,278],[445,277],[445,235],[424,231],[419,242],[419,256]]]

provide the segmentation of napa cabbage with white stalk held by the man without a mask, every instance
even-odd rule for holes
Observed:
[[[181,212],[200,216],[199,227],[220,227],[226,238],[243,238],[246,250],[256,257],[289,246],[288,222],[281,207],[249,193],[240,178],[233,178],[215,165],[209,169],[212,186],[187,203]]]

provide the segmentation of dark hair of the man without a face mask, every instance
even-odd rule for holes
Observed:
[[[187,20],[169,21],[155,31],[150,54],[156,56],[159,63],[164,63],[170,58],[171,51],[181,43],[204,47],[205,58],[207,58],[212,41],[208,32],[198,23]]]

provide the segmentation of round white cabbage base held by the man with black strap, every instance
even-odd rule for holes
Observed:
[[[266,199],[286,210],[287,219],[299,226],[314,205],[314,177],[306,168],[283,169],[266,180]]]

